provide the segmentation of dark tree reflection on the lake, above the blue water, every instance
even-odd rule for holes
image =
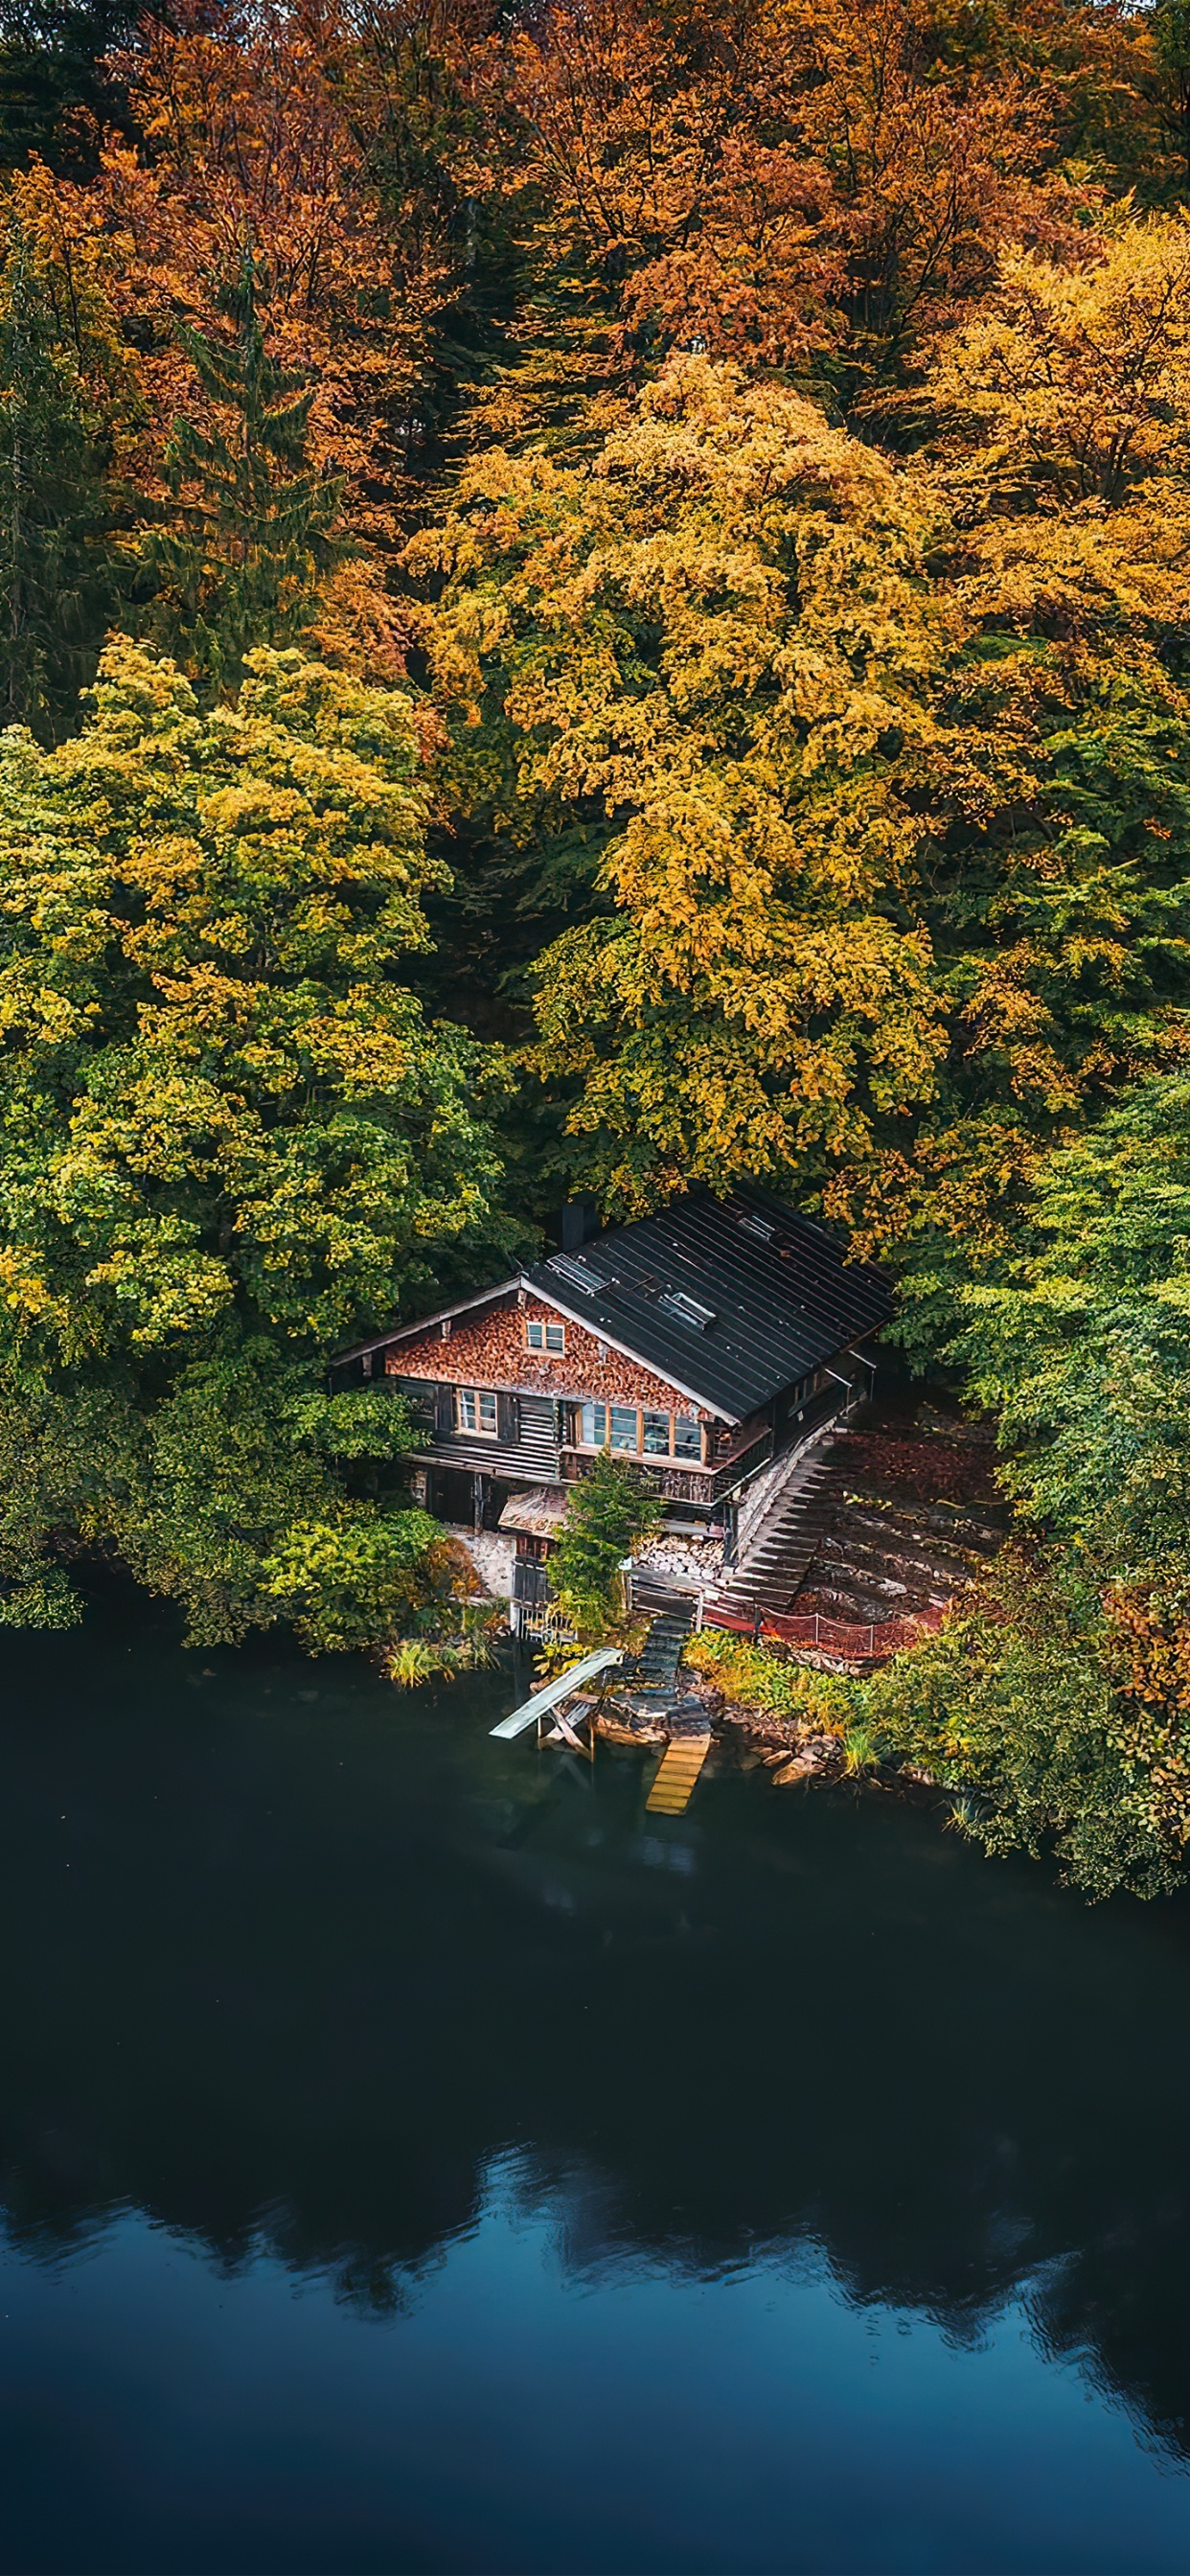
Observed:
[[[121,2210],[384,2318],[495,2177],[574,2285],[817,2249],[976,2344],[1012,2300],[1190,2439],[1190,1917],[1087,1911],[881,1801],[495,1747],[497,1708],[5,1646],[0,2197],[54,2262]]]

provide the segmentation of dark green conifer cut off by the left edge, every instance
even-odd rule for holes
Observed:
[[[0,270],[0,721],[72,732],[116,577],[106,440],[18,222]]]

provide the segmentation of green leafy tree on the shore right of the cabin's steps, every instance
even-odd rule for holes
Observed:
[[[868,1716],[989,1852],[1157,1893],[1190,1844],[1190,1077],[1051,1151],[1015,1255],[968,1262],[958,1303],[953,1355],[1035,1543],[871,1685]]]

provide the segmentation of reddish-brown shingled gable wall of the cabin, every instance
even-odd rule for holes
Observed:
[[[551,1321],[567,1327],[567,1350],[554,1358],[543,1350],[525,1350],[525,1324]],[[600,1347],[608,1352],[600,1360]],[[389,1347],[384,1368],[392,1378],[438,1378],[443,1386],[495,1386],[507,1394],[567,1396],[572,1404],[592,1399],[600,1404],[649,1404],[662,1414],[685,1414],[695,1422],[713,1422],[706,1404],[693,1404],[677,1386],[654,1378],[652,1368],[621,1358],[608,1342],[598,1342],[569,1314],[531,1296],[525,1306],[489,1306],[479,1316],[453,1316],[451,1332],[422,1332],[410,1342]]]

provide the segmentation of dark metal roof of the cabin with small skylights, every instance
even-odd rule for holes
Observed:
[[[729,1422],[891,1316],[878,1270],[752,1185],[690,1190],[523,1278]]]

